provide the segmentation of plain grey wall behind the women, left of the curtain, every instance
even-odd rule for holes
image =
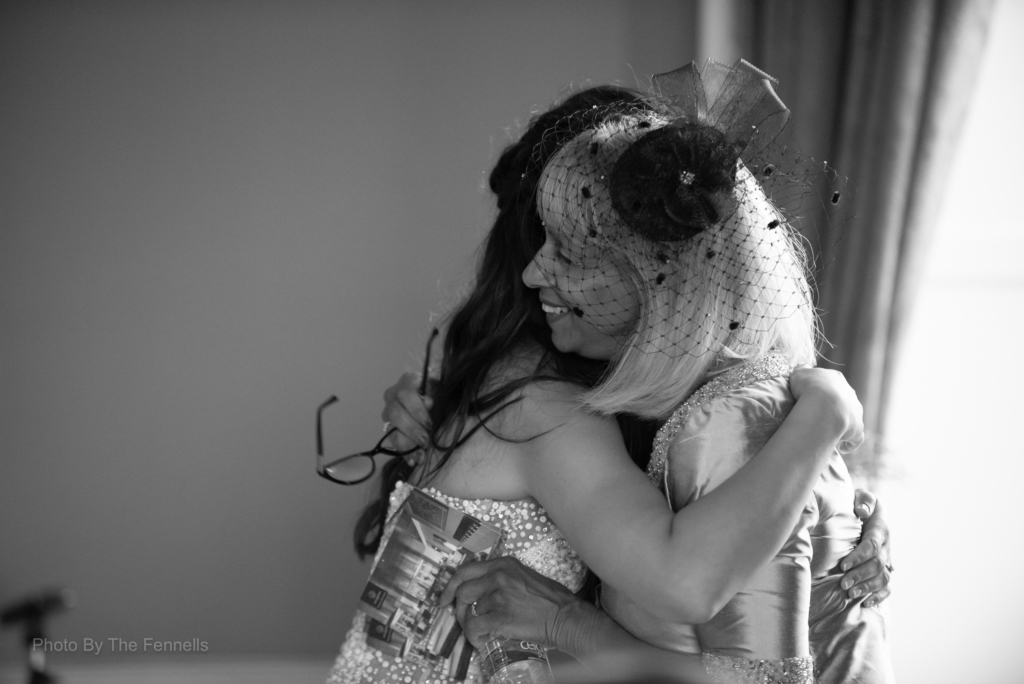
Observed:
[[[53,636],[330,656],[382,389],[470,272],[498,152],[694,57],[681,2],[0,7],[0,603]],[[15,635],[0,657],[17,656]]]

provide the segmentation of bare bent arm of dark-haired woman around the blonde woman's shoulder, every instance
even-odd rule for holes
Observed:
[[[859,407],[838,374],[809,387],[757,458],[673,514],[614,422],[580,412],[561,384],[532,386],[517,412],[516,435],[534,437],[520,474],[604,582],[653,615],[699,624],[781,548],[836,444],[859,439]]]

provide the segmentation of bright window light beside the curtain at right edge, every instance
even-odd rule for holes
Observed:
[[[896,678],[1020,682],[1024,2],[1000,0],[899,358],[881,488]]]

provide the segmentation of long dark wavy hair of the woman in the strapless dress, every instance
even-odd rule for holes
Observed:
[[[490,172],[488,182],[498,200],[498,217],[484,241],[473,289],[449,322],[440,377],[432,391],[430,439],[441,453],[435,471],[476,429],[486,429],[488,418],[514,403],[514,393],[526,384],[547,378],[590,387],[606,370],[605,361],[555,349],[538,293],[523,285],[522,272],[545,240],[536,197],[548,160],[569,139],[613,116],[620,105],[625,112],[642,103],[637,93],[614,86],[578,92],[535,117]],[[518,351],[535,349],[540,350],[540,361],[531,373],[495,386],[490,374],[495,364],[512,358]],[[470,420],[476,425],[466,432]],[[627,417],[621,418],[620,424],[634,461],[646,466],[651,426]],[[454,437],[444,443],[442,435]],[[404,459],[393,459],[383,467],[380,497],[355,525],[355,550],[360,558],[377,551],[391,490],[412,471]]]

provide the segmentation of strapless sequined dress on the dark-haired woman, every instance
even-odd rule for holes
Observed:
[[[389,518],[393,519],[395,511],[406,501],[413,488],[413,485],[406,482],[397,483],[394,491],[391,493],[388,505]],[[497,524],[504,529],[503,555],[517,558],[524,565],[546,578],[561,583],[572,592],[577,592],[583,587],[587,572],[586,566],[536,501],[531,499],[521,501],[467,500],[449,497],[430,487],[423,490],[453,508]],[[384,538],[381,541],[382,549],[391,535],[391,529],[390,524],[384,528]],[[379,559],[380,551],[374,559],[374,565]],[[369,682],[450,684],[456,681],[449,677],[438,676],[431,676],[424,680],[419,679],[419,676],[418,667],[402,662],[401,658],[386,655],[367,645],[366,615],[361,611],[356,611],[352,621],[352,629],[345,636],[345,642],[341,645],[341,653],[335,660],[327,681],[328,684],[365,684]],[[469,674],[465,681],[467,684],[480,684],[483,681],[476,657],[470,664]]]

